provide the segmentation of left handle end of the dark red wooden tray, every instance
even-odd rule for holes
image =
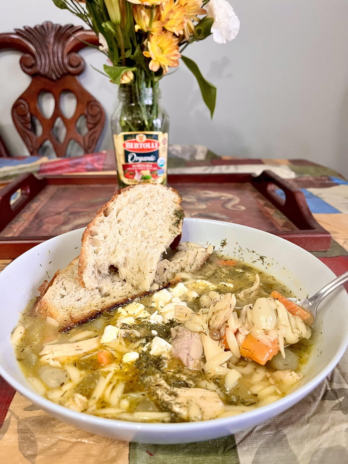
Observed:
[[[0,190],[0,231],[26,206],[45,186],[43,179],[32,174],[23,174]]]

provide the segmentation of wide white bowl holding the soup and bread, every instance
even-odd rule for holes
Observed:
[[[78,413],[38,395],[20,371],[10,343],[19,312],[37,295],[37,287],[79,254],[83,230],[52,238],[27,251],[0,273],[0,374],[40,408],[89,432],[143,443],[187,443],[222,437],[253,427],[301,400],[337,365],[348,345],[348,295],[344,289],[322,303],[316,322],[316,342],[304,378],[294,391],[266,406],[234,417],[179,424],[146,424],[104,419]],[[320,260],[302,248],[250,227],[208,219],[185,219],[182,240],[211,243],[288,285],[299,297],[312,294],[334,278]]]

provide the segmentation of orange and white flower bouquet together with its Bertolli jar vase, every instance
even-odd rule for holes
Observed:
[[[168,115],[159,104],[159,81],[171,68],[176,68],[181,59],[195,76],[203,100],[213,116],[216,88],[203,78],[196,63],[182,52],[189,44],[211,34],[218,43],[234,39],[239,31],[239,20],[232,6],[227,0],[53,2],[83,19],[97,34],[99,50],[108,58],[103,71],[112,83],[119,86],[121,105],[111,121],[119,184],[150,182],[154,178],[154,182],[164,183]],[[127,134],[127,140],[123,134]],[[137,140],[137,135],[141,140],[139,137]],[[149,139],[153,143],[147,143]],[[127,153],[125,144],[130,148]],[[159,150],[151,151],[150,146]],[[120,151],[122,161],[119,163]],[[128,155],[136,163],[140,161],[144,169],[135,169],[137,166],[129,161]],[[153,162],[155,159],[156,163]],[[121,171],[128,176],[122,176],[122,181]]]

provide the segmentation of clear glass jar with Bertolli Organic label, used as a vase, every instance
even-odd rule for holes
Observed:
[[[160,104],[157,83],[120,85],[111,116],[119,187],[166,184],[169,116]]]

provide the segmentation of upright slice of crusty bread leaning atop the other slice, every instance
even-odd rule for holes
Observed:
[[[116,269],[134,288],[148,291],[162,254],[180,240],[180,203],[178,192],[163,185],[118,190],[84,232],[78,272],[83,285],[99,288]]]

